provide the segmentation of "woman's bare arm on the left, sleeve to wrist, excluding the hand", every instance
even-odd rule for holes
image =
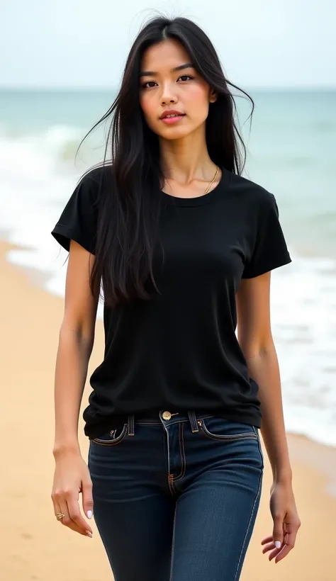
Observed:
[[[89,290],[94,255],[70,241],[65,311],[60,327],[55,366],[55,458],[67,451],[79,451],[78,421],[91,351],[98,293]]]

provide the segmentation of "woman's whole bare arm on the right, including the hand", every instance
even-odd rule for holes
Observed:
[[[237,337],[249,375],[259,385],[262,439],[273,473],[270,509],[273,534],[262,540],[263,553],[275,563],[293,548],[301,526],[292,488],[292,470],[284,425],[279,363],[271,334],[271,272],[244,278],[236,294]],[[266,544],[267,543],[267,544]],[[279,545],[280,543],[280,545]]]

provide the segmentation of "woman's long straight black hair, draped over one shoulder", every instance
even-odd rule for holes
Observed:
[[[217,94],[206,119],[206,144],[211,160],[236,174],[245,165],[246,149],[237,130],[235,100],[228,86],[250,99],[250,116],[254,110],[252,98],[225,78],[213,44],[193,21],[183,17],[150,18],[130,49],[115,101],[89,131],[114,113],[106,142],[106,150],[111,142],[111,164],[104,170],[106,175],[108,172],[109,187],[102,188],[99,200],[95,261],[90,277],[92,293],[102,282],[106,305],[149,298],[148,281],[158,290],[152,258],[159,221],[157,192],[164,186],[164,176],[159,163],[158,136],[148,127],[140,107],[139,74],[145,50],[167,38],[184,46],[198,74]]]

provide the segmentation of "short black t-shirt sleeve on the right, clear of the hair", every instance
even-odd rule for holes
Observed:
[[[245,263],[242,278],[254,278],[291,261],[279,222],[276,199],[272,193],[267,192],[259,208],[254,248]]]

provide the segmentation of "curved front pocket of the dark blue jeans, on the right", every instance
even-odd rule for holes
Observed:
[[[198,420],[201,432],[207,438],[217,441],[257,440],[257,431],[250,424],[235,422],[219,416],[211,416]]]

